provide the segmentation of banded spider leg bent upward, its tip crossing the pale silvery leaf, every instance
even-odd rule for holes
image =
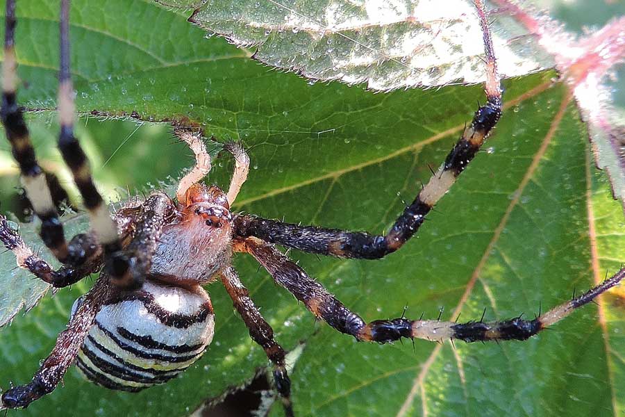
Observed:
[[[486,104],[478,108],[471,124],[462,132],[444,163],[423,186],[412,204],[399,215],[387,234],[374,236],[366,232],[301,226],[253,215],[238,215],[235,218],[235,234],[244,238],[255,236],[285,247],[342,258],[379,259],[406,243],[424,222],[426,214],[472,161],[501,116],[501,88],[487,17],[481,1],[476,0],[475,3],[486,54]]]

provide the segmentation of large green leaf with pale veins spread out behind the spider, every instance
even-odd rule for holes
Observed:
[[[328,227],[382,232],[439,164],[482,99],[481,88],[373,94],[309,85],[268,71],[247,53],[151,3],[74,1],[72,51],[79,133],[103,190],[142,188],[190,165],[162,126],[100,123],[86,115],[184,118],[217,140],[249,147],[251,175],[236,208]],[[56,81],[56,3],[19,3],[20,90],[28,108],[52,108]],[[320,259],[292,252],[303,268],[367,320],[396,317],[508,318],[566,300],[625,259],[619,204],[595,172],[585,126],[553,74],[506,82],[506,113],[419,236],[381,261]],[[29,117],[44,165],[52,112]],[[86,124],[86,126],[85,126]],[[151,134],[153,133],[153,134]],[[123,147],[104,161],[124,142]],[[1,145],[6,183],[16,183]],[[226,184],[219,155],[211,181]],[[64,177],[67,178],[67,177]],[[3,203],[8,199],[3,185]],[[86,227],[86,224],[85,224]],[[40,248],[40,243],[37,244]],[[9,266],[10,265],[10,266]],[[0,290],[11,297],[2,254]],[[395,345],[356,343],[323,323],[248,256],[235,265],[287,349],[305,341],[292,372],[298,416],[437,416],[624,412],[623,295],[615,292],[526,343]],[[25,280],[26,281],[26,280]],[[10,281],[15,285],[15,281]],[[65,327],[89,282],[60,291],[0,332],[0,386],[28,381]],[[75,370],[65,386],[20,414],[183,416],[267,365],[223,288],[210,286],[215,341],[194,366],[138,394],[107,391]],[[6,300],[0,297],[0,302]],[[15,297],[14,297],[15,298]],[[14,300],[15,301],[15,300]],[[1,309],[0,309],[1,312]],[[281,414],[279,407],[272,413]]]

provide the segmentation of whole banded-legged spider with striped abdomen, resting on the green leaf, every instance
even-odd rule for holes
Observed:
[[[484,35],[487,101],[478,107],[444,163],[390,231],[372,236],[233,213],[231,206],[249,171],[246,152],[240,144],[226,145],[235,159],[230,186],[225,193],[217,186],[206,186],[201,181],[210,171],[210,156],[201,132],[187,129],[176,129],[176,135],[192,149],[196,164],[178,183],[176,198],[155,192],[144,199],[131,200],[111,215],[94,186],[87,158],[73,133],[69,0],[62,0],[58,147],[74,175],[92,226],[92,231],[78,234],[68,242],[55,204],[65,194],[58,181],[38,165],[22,109],[17,105],[15,0],[7,1],[0,115],[26,195],[41,220],[42,241],[63,266],[53,270],[26,246],[3,216],[0,240],[15,254],[20,267],[53,287],[69,286],[92,272],[100,275],[92,289],[76,300],[67,329],[59,335],[33,380],[5,391],[0,408],[27,407],[50,393],[74,362],[88,379],[109,389],[140,391],[167,382],[199,359],[212,341],[215,316],[202,286],[219,280],[249,328],[251,338],[267,353],[285,412],[294,415],[285,350],[274,340],[272,328],[232,268],[233,252],[251,254],[278,285],[290,291],[317,319],[358,341],[376,343],[401,338],[437,342],[526,340],[618,284],[625,270],[533,320],[518,317],[458,323],[402,316],[365,322],[276,249],[275,245],[281,245],[342,258],[379,259],[399,250],[417,232],[428,212],[472,161],[501,115],[501,88],[485,9],[480,0],[475,3]]]

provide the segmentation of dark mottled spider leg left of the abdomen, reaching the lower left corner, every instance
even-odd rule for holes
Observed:
[[[96,281],[69,321],[67,329],[59,334],[56,345],[35,373],[32,382],[15,386],[3,393],[0,409],[28,407],[28,404],[56,388],[67,368],[74,362],[97,312],[110,297],[110,288],[106,277]]]

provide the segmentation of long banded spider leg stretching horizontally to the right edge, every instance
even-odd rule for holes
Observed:
[[[495,322],[469,321],[464,323],[440,320],[410,320],[393,318],[365,322],[351,312],[331,293],[308,277],[299,266],[288,259],[274,245],[256,238],[248,238],[235,246],[239,252],[248,252],[265,267],[277,284],[288,289],[303,302],[315,316],[339,332],[351,334],[359,341],[387,343],[405,338],[422,338],[442,342],[458,339],[467,343],[476,341],[526,340],[541,330],[568,316],[574,309],[592,302],[598,295],[616,286],[625,277],[625,268],[601,284],[573,300],[542,313],[534,320],[521,316]]]

